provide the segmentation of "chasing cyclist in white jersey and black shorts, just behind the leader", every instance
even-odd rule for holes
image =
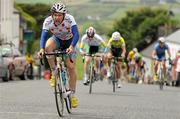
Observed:
[[[84,34],[81,38],[81,43],[80,43],[80,54],[85,55],[85,54],[95,54],[100,51],[100,46],[106,46],[105,40],[101,38],[100,35],[96,33],[96,30],[90,26],[86,30],[86,34]],[[86,48],[87,47],[87,48]],[[88,78],[89,78],[89,73],[88,73],[88,67],[90,63],[90,56],[85,56],[84,57],[85,62],[84,62],[84,81],[83,84],[87,85],[88,84]],[[99,67],[99,60],[98,58],[95,58],[96,62],[96,76],[99,76],[100,74],[100,67]]]

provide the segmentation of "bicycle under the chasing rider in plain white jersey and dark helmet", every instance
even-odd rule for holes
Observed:
[[[84,56],[90,56],[91,57],[91,62],[90,62],[90,66],[89,66],[89,69],[90,69],[90,73],[89,73],[89,94],[92,93],[92,84],[93,82],[96,80],[96,71],[95,71],[95,63],[94,63],[94,58],[95,57],[101,57],[100,55],[96,55],[96,54],[85,54]],[[102,61],[102,59],[101,59]],[[83,57],[83,62],[84,62],[84,57]]]

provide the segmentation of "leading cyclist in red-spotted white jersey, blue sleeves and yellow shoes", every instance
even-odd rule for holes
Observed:
[[[40,40],[40,51],[38,56],[42,58],[44,52],[52,52],[57,48],[63,50],[66,49],[67,53],[72,58],[73,62],[70,62],[69,57],[66,57],[65,63],[69,71],[70,76],[70,90],[72,91],[71,102],[72,107],[77,107],[77,98],[75,97],[76,90],[76,70],[75,70],[75,59],[76,59],[76,44],[79,39],[79,32],[77,24],[72,15],[67,13],[66,6],[59,2],[52,5],[51,16],[47,17],[43,23],[41,40]],[[52,36],[47,40],[48,31],[51,31]],[[47,40],[47,41],[46,41]],[[50,79],[50,86],[54,87],[55,81],[55,57],[48,56],[48,63],[51,68],[52,76]]]

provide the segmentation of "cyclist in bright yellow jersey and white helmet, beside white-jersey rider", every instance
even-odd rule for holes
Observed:
[[[115,57],[123,57],[125,58],[126,54],[126,45],[124,38],[121,36],[121,34],[118,31],[115,31],[112,33],[111,38],[108,41],[107,49],[110,49],[107,53],[107,60],[106,60],[106,67],[107,67],[107,77],[111,77],[111,72],[109,68],[108,61],[112,58],[112,56]],[[122,87],[120,75],[121,75],[121,62],[118,61],[117,63],[117,79],[118,79],[118,88]]]

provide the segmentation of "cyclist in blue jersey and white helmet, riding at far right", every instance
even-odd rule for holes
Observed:
[[[154,62],[154,79],[157,79],[157,68],[160,61],[162,61],[163,64],[163,72],[164,76],[166,76],[166,51],[168,53],[169,59],[171,57],[171,52],[169,50],[169,46],[165,43],[164,37],[159,37],[158,43],[155,45],[154,50],[152,52],[152,58],[155,59]]]

